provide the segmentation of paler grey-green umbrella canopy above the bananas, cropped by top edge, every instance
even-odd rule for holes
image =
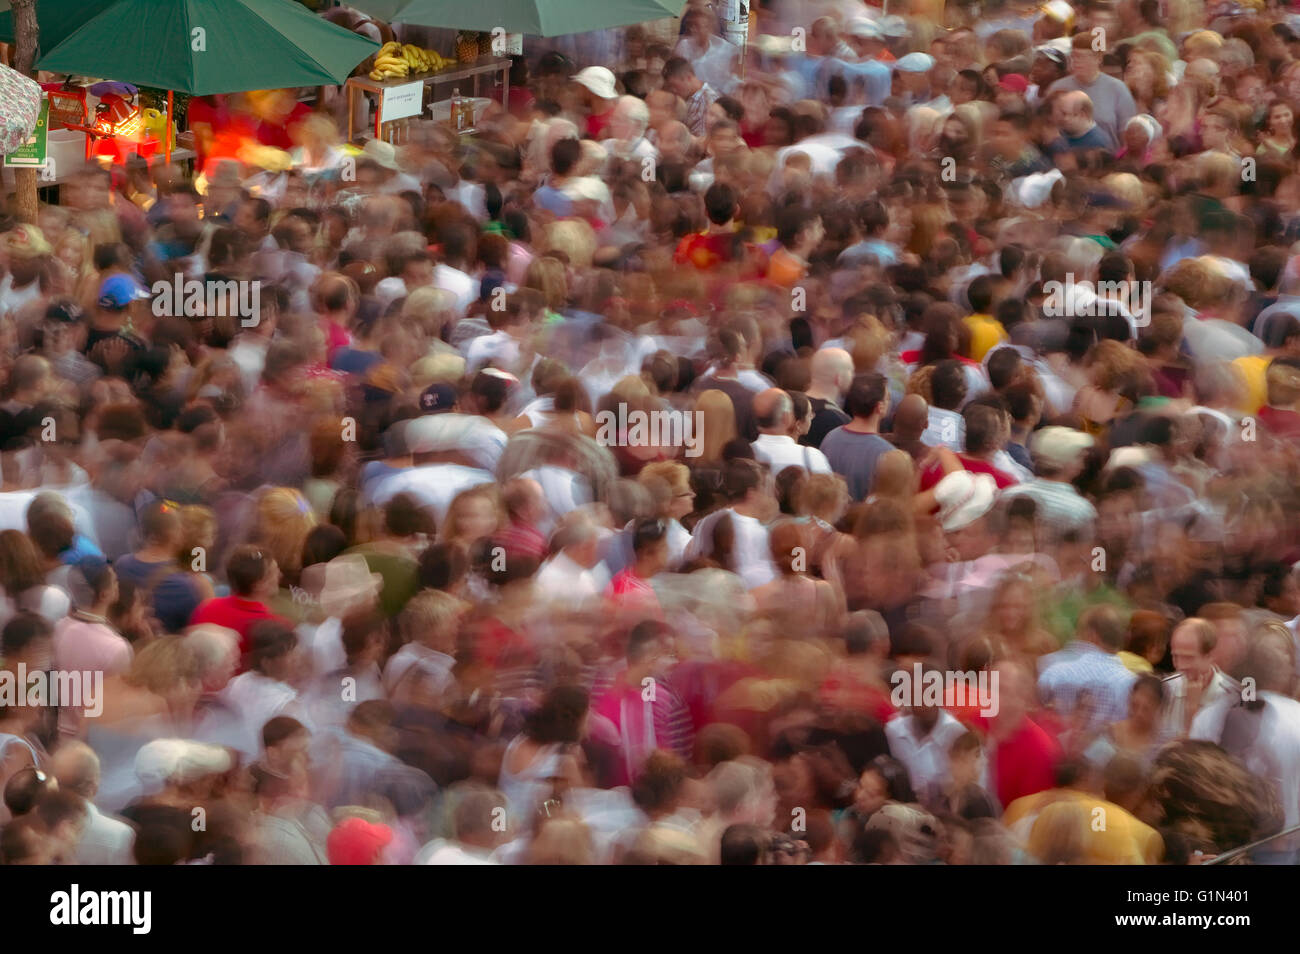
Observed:
[[[676,17],[685,0],[350,0],[390,23],[564,36]]]

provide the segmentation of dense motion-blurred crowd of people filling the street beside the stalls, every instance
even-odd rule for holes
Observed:
[[[728,36],[0,222],[0,862],[1295,863],[1300,16]]]

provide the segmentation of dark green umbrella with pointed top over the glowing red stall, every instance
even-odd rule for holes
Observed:
[[[114,0],[42,47],[43,70],[207,96],[342,83],[378,44],[294,0]]]

